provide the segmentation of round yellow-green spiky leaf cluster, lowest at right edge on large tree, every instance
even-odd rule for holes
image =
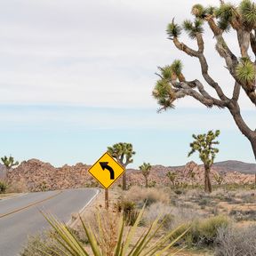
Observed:
[[[248,58],[241,58],[240,63],[236,67],[236,76],[245,84],[252,84],[255,81],[255,67]]]

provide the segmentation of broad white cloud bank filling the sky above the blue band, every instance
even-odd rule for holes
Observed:
[[[194,3],[194,0],[177,4],[167,0],[1,2],[0,93],[4,95],[1,102],[156,107],[150,96],[156,81],[156,66],[181,58],[188,79],[201,77],[197,61],[176,51],[164,31],[173,16],[177,21],[184,20]],[[229,43],[234,44],[233,39],[234,35],[230,35]],[[212,76],[218,77],[230,94],[233,82],[227,78],[220,57],[212,54],[214,41],[208,32],[205,42],[207,55],[211,56]],[[246,97],[241,102],[244,108],[253,108]],[[188,99],[178,106],[200,105]]]

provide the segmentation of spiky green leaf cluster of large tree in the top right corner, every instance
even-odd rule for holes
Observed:
[[[253,28],[256,25],[256,6],[251,0],[243,0],[239,5],[239,12],[248,26]]]

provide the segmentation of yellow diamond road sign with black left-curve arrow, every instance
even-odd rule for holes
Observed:
[[[118,164],[108,153],[92,165],[89,172],[104,188],[109,188],[123,173],[124,167]]]

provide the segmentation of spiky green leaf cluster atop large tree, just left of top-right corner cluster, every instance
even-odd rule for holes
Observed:
[[[224,31],[230,29],[230,21],[234,17],[235,6],[233,4],[220,4],[220,8],[215,10],[215,16],[218,19],[218,26]]]

